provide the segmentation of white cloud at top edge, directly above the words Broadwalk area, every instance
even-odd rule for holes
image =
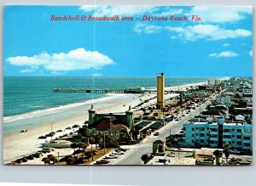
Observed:
[[[121,6],[100,6],[100,5],[84,5],[80,7],[86,13],[92,13],[97,16],[113,16],[113,15],[137,15],[145,13],[153,13],[157,8],[154,6],[136,6],[136,5],[121,5]]]

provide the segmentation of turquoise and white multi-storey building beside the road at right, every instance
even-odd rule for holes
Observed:
[[[230,148],[252,152],[253,125],[247,123],[226,123],[219,119],[216,123],[188,122],[183,124],[183,143],[189,146]]]

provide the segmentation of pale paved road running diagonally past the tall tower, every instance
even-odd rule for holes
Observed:
[[[183,127],[183,123],[189,121],[189,119],[193,118],[195,115],[198,115],[201,110],[204,110],[207,107],[208,104],[211,104],[211,102],[207,101],[205,104],[201,104],[200,107],[196,107],[195,110],[191,110],[191,112],[183,116],[180,121],[171,121],[167,123],[165,127],[160,128],[160,136],[151,136],[151,138],[142,144],[130,145],[130,150],[128,150],[125,155],[120,156],[118,160],[113,161],[110,164],[143,165],[141,157],[144,154],[152,153],[152,144],[155,140],[166,140],[166,137],[170,135],[170,130],[172,130],[172,134],[180,132]]]

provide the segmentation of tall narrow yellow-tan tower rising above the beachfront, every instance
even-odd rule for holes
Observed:
[[[157,104],[158,109],[163,109],[165,106],[165,76],[164,73],[157,75]]]

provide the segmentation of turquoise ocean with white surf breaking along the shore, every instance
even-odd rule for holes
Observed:
[[[206,82],[209,77],[165,77],[166,87]],[[47,122],[85,113],[97,100],[96,108],[134,96],[102,93],[55,93],[55,87],[123,89],[156,87],[156,77],[73,77],[73,76],[4,76],[3,133],[35,127]]]

